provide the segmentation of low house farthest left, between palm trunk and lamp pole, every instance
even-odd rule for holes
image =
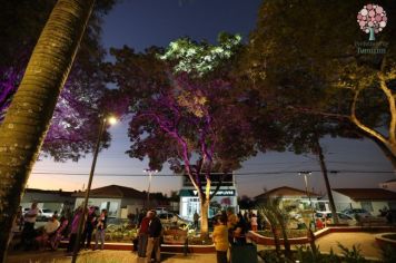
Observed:
[[[50,189],[36,189],[26,188],[22,196],[21,206],[28,208],[31,203],[37,202],[39,208],[47,208],[51,211],[62,211],[72,210],[75,205],[76,197],[72,196],[73,192],[66,191],[50,191]]]

